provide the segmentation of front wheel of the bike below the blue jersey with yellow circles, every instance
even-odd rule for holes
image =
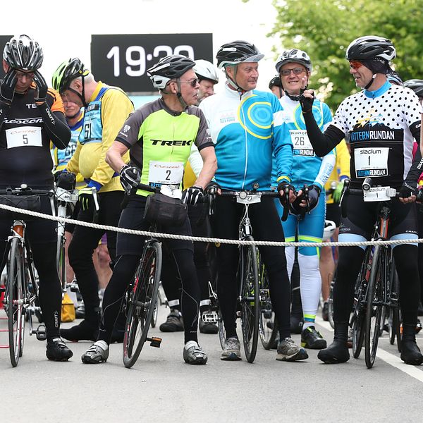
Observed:
[[[245,240],[252,240],[246,237]],[[257,274],[257,252],[255,245],[241,247],[240,298],[241,329],[247,362],[252,363],[257,353],[259,338],[259,276]]]

